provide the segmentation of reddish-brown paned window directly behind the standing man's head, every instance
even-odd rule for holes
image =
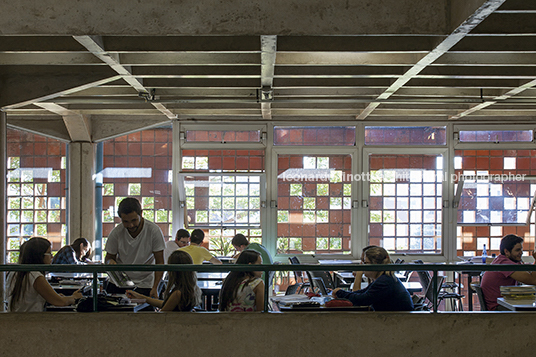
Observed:
[[[171,128],[144,130],[107,141],[103,155],[103,247],[119,222],[117,207],[125,197],[137,198],[143,217],[155,222],[166,240],[172,237]]]

